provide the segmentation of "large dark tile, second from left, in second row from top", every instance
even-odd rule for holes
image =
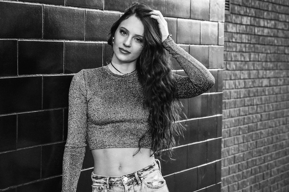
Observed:
[[[43,34],[45,39],[84,40],[84,10],[44,5]]]

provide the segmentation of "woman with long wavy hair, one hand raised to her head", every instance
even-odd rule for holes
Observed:
[[[159,11],[134,3],[111,28],[107,66],[75,74],[69,90],[62,191],[76,191],[88,141],[92,191],[168,191],[154,155],[181,134],[178,98],[202,94],[214,77],[170,38]],[[166,50],[188,77],[171,72]]]

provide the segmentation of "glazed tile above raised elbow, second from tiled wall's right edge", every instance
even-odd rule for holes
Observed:
[[[206,68],[209,67],[209,46],[190,45],[190,55],[200,61]]]

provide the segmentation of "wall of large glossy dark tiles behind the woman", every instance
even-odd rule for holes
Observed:
[[[0,0],[0,191],[61,191],[71,79],[105,64],[108,29],[132,2]],[[185,139],[175,161],[162,161],[169,190],[221,191],[225,1],[139,2],[160,10],[175,42],[216,79],[209,92],[181,100]],[[77,191],[91,191],[92,166],[87,149]]]

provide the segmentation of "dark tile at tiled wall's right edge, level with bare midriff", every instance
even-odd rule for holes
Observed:
[[[221,138],[208,141],[207,163],[221,159]]]

